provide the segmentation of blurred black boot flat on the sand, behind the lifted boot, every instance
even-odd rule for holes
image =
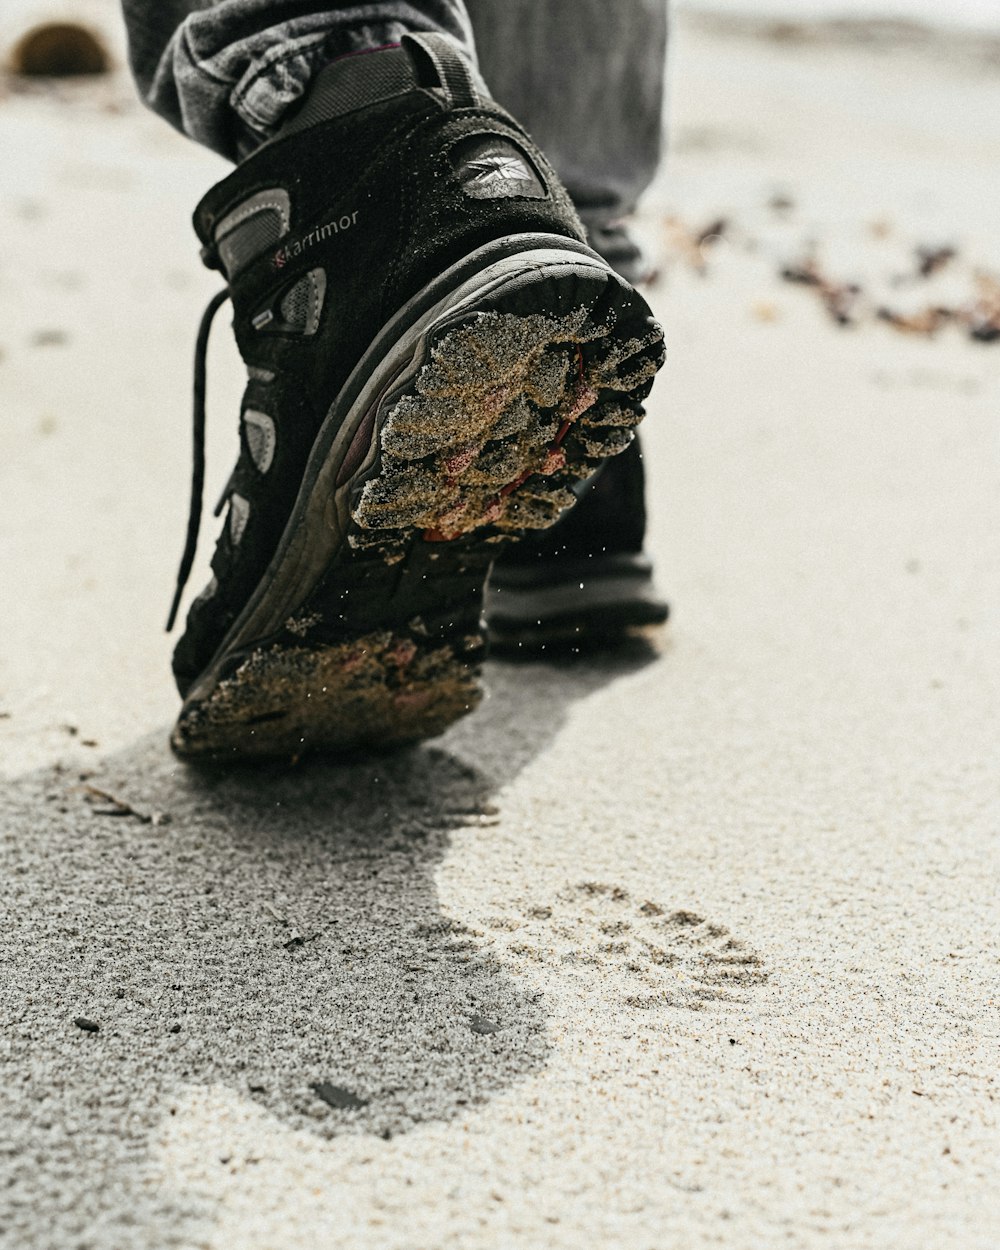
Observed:
[[[604,649],[662,625],[670,614],[642,550],[639,439],[575,489],[575,508],[504,550],[492,566],[486,622],[500,655]]]

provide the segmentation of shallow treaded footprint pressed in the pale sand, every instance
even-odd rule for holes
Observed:
[[[768,976],[756,951],[725,925],[598,881],[488,924],[506,955],[565,971],[578,985],[589,982],[588,992],[634,1008],[740,1001]]]

